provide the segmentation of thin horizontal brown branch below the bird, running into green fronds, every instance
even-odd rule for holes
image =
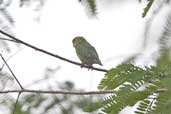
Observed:
[[[29,90],[29,89],[23,89],[23,90],[4,90],[0,91],[0,94],[6,94],[6,93],[36,93],[36,94],[63,94],[63,95],[95,95],[95,94],[112,94],[115,93],[115,91],[53,91],[53,90]]]

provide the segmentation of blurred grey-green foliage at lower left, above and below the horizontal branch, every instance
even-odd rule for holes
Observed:
[[[55,73],[59,70],[57,68],[46,68],[44,76],[30,86],[35,84],[47,84]],[[8,74],[0,72],[0,89],[5,90],[8,85],[13,85],[14,80]],[[12,83],[13,82],[13,83]],[[10,84],[11,83],[11,84]],[[51,88],[63,91],[81,91],[75,88],[74,83],[65,81],[63,83],[56,83],[55,85],[47,85],[46,90]],[[8,87],[10,88],[10,87]],[[94,97],[97,98],[97,97]],[[72,95],[54,95],[54,94],[34,94],[22,93],[16,105],[15,114],[73,114],[75,110],[81,110],[86,105],[91,104],[89,97],[86,96],[72,96]],[[16,99],[11,94],[0,94],[0,109],[4,114],[13,114]]]

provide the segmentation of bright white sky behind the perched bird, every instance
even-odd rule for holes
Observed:
[[[39,48],[79,62],[72,39],[81,35],[96,48],[104,65],[95,66],[104,69],[115,67],[123,57],[142,49],[145,19],[141,18],[141,14],[144,4],[135,2],[137,0],[112,4],[98,1],[98,18],[90,19],[77,0],[47,0],[41,11],[39,23],[34,21],[37,14],[33,10],[18,8],[16,1],[10,9],[16,20],[16,36]],[[22,47],[23,49],[10,59],[9,64],[23,85],[40,79],[47,66],[61,66],[54,80],[71,80],[76,88],[86,90],[96,90],[104,76],[103,72],[87,71],[85,68],[81,69]],[[41,89],[43,86],[46,87],[41,85]]]

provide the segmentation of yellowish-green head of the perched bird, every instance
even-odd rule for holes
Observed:
[[[73,47],[77,47],[81,43],[87,42],[82,36],[77,36],[72,40]]]

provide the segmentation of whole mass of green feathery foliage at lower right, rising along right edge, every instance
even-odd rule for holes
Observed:
[[[94,103],[91,110],[99,114],[118,114],[126,106],[139,103],[136,114],[169,114],[171,112],[171,16],[169,15],[159,38],[160,56],[155,66],[140,68],[132,64],[121,64],[110,69],[101,80],[100,90],[114,90]]]

